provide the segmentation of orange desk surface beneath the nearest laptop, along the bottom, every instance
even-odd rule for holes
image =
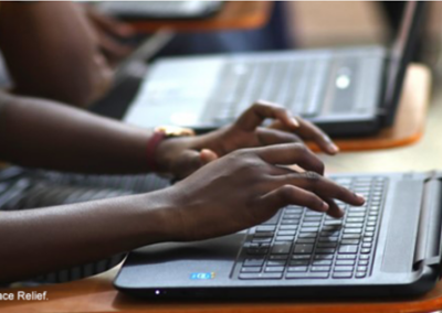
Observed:
[[[39,288],[3,289],[0,292],[44,292],[46,301],[0,301],[0,312],[158,312],[158,313],[337,313],[337,312],[432,312],[442,307],[442,282],[421,298],[402,300],[354,300],[354,301],[281,301],[281,302],[175,302],[154,303],[129,298],[112,287],[117,273],[106,273],[85,280]]]

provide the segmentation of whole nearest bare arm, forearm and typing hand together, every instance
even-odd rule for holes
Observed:
[[[312,172],[296,173],[277,164],[299,164]],[[324,198],[351,205],[364,203],[361,197],[318,174],[316,171],[323,166],[299,143],[243,149],[160,192],[4,212],[0,237],[8,239],[0,247],[0,281],[36,276],[149,244],[231,234],[266,220],[288,204],[340,216],[339,208]]]

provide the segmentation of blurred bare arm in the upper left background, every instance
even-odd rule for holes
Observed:
[[[0,46],[18,94],[85,106],[110,83],[75,3],[2,2]]]

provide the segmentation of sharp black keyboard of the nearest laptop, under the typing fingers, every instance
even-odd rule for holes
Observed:
[[[238,278],[364,279],[370,276],[375,242],[387,180],[336,179],[367,203],[345,211],[336,219],[305,207],[288,206],[270,220],[250,229],[240,259]]]

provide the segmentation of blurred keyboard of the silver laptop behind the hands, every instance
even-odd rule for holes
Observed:
[[[277,102],[303,117],[320,112],[337,60],[328,53],[311,60],[229,62],[211,96],[213,119],[234,120],[257,99]]]

